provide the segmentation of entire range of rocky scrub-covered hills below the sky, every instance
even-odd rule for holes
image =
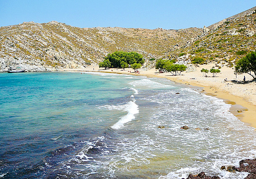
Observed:
[[[256,7],[209,27],[180,30],[120,27],[79,28],[59,23],[23,22],[0,27],[0,71],[20,65],[27,71],[86,68],[114,51],[135,51],[151,58],[190,63],[205,59],[221,68],[256,47]]]

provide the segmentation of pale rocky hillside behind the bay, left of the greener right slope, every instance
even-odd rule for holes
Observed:
[[[158,58],[186,47],[203,29],[79,28],[59,23],[23,22],[0,27],[0,71],[21,66],[28,71],[85,68],[114,51],[135,51]]]

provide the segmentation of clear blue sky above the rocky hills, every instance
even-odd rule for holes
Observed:
[[[256,0],[0,0],[0,26],[56,20],[77,27],[182,29],[209,26]]]

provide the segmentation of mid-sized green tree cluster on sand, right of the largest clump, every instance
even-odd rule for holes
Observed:
[[[170,72],[172,75],[180,75],[182,71],[185,71],[187,66],[173,64],[175,60],[158,59],[155,63],[155,68],[159,70],[160,73]]]

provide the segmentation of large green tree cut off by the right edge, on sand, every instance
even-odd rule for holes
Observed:
[[[237,61],[235,66],[235,73],[248,73],[254,79],[256,79],[256,51],[248,53],[245,57]]]

